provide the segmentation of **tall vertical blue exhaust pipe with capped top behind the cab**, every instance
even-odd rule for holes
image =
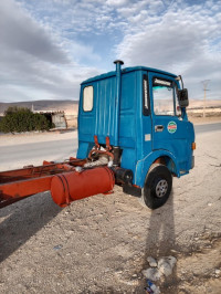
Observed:
[[[116,60],[116,98],[115,98],[115,124],[114,124],[114,146],[119,146],[119,107],[120,107],[120,93],[122,93],[122,65],[123,61]]]

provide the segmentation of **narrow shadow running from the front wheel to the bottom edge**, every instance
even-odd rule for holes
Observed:
[[[151,211],[149,219],[148,234],[146,240],[146,249],[144,255],[143,270],[146,270],[149,266],[147,258],[152,256],[156,260],[159,260],[162,256],[172,255],[177,258],[176,252],[179,250],[176,244],[176,234],[175,234],[175,218],[173,218],[173,191],[170,195],[167,203]],[[144,287],[147,285],[146,280],[144,280],[141,285],[139,285],[139,293],[145,293]],[[177,270],[173,267],[172,274],[168,277],[161,279],[162,282],[154,282],[160,287],[161,293],[178,293],[177,284]],[[143,291],[143,292],[140,292]]]

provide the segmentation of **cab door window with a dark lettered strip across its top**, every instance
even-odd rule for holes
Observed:
[[[173,83],[161,77],[152,80],[154,112],[156,115],[175,115]]]

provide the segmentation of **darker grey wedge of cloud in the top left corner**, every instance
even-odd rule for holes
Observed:
[[[0,35],[1,44],[13,51],[25,52],[49,62],[67,62],[65,52],[55,44],[52,36],[11,0],[1,1]]]

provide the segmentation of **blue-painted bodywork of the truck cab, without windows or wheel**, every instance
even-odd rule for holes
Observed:
[[[144,82],[145,76],[147,83]],[[167,80],[180,88],[175,74],[145,66],[127,67],[120,70],[120,74],[109,72],[81,84],[77,158],[88,156],[94,146],[94,135],[99,144],[105,144],[108,136],[112,146],[123,149],[120,166],[133,170],[134,183],[139,187],[144,187],[149,167],[159,157],[164,157],[167,167],[177,177],[189,172],[192,167],[193,125],[188,122],[185,108],[182,118],[155,114],[155,77]],[[148,94],[146,106],[145,83]],[[94,88],[94,107],[92,112],[84,112],[83,90],[90,85]],[[172,103],[176,107],[176,101]],[[145,107],[148,109],[144,111]],[[175,133],[168,132],[171,122],[177,126]],[[162,132],[156,132],[156,126],[162,126]]]

